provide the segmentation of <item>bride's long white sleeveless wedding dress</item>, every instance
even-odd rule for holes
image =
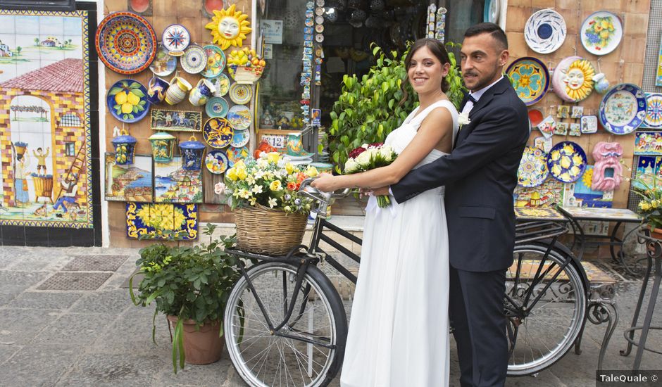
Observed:
[[[385,144],[400,153],[437,107],[453,117],[449,101],[416,108]],[[447,153],[433,149],[416,165]],[[449,384],[449,262],[444,187],[389,208],[370,198],[361,267],[351,308],[340,376],[343,387],[433,387]]]

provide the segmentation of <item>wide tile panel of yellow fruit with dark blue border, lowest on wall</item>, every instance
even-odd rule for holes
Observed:
[[[138,239],[198,239],[196,204],[127,203],[127,236]]]

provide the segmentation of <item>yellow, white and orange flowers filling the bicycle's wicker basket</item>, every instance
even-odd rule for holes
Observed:
[[[272,152],[258,160],[237,161],[225,171],[225,184],[214,188],[217,194],[228,196],[228,204],[233,210],[238,206],[263,205],[288,213],[306,214],[311,210],[312,200],[299,195],[299,186],[304,179],[317,175],[315,167],[300,170]]]

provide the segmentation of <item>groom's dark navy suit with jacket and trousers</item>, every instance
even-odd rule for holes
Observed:
[[[505,77],[480,96],[469,118],[449,156],[409,172],[391,191],[402,203],[446,186],[449,308],[461,385],[503,386],[508,357],[505,270],[513,262],[513,190],[529,123],[526,106]]]

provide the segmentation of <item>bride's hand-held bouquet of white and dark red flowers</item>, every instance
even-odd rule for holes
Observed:
[[[349,159],[345,163],[345,175],[353,173],[374,170],[375,168],[385,167],[398,157],[394,149],[380,142],[374,144],[363,144],[349,152]],[[391,204],[391,199],[387,195],[377,196],[377,205],[385,208]]]

